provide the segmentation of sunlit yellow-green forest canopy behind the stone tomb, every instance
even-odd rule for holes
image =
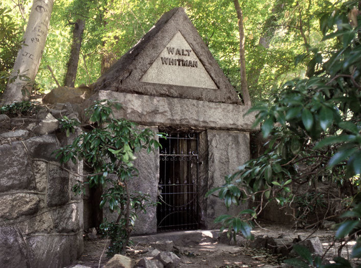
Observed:
[[[21,38],[24,36],[32,1],[5,0],[0,4],[1,77],[13,67]],[[55,1],[46,46],[36,76],[39,92],[56,87],[54,76],[64,85],[73,30],[78,20],[84,22],[75,86],[89,85],[119,59],[154,25],[163,13],[184,7],[202,39],[210,48],[224,74],[240,92],[239,34],[237,14],[232,1],[151,0],[151,1]],[[306,62],[312,48],[332,46],[320,42],[319,20],[341,6],[329,1],[242,1],[245,61],[251,100],[267,99],[267,94],[285,81],[305,77]],[[298,64],[295,64],[295,58]],[[0,82],[4,90],[6,79]]]

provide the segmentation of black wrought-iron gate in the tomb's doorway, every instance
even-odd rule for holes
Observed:
[[[198,134],[161,138],[157,231],[198,229]]]

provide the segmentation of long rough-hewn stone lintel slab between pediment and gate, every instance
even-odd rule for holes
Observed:
[[[114,110],[117,118],[125,118],[146,126],[185,127],[252,131],[255,113],[244,116],[249,106],[210,103],[190,99],[163,98],[100,90],[83,103],[87,108],[94,101],[116,100],[122,104]],[[84,114],[82,119],[86,120]]]

